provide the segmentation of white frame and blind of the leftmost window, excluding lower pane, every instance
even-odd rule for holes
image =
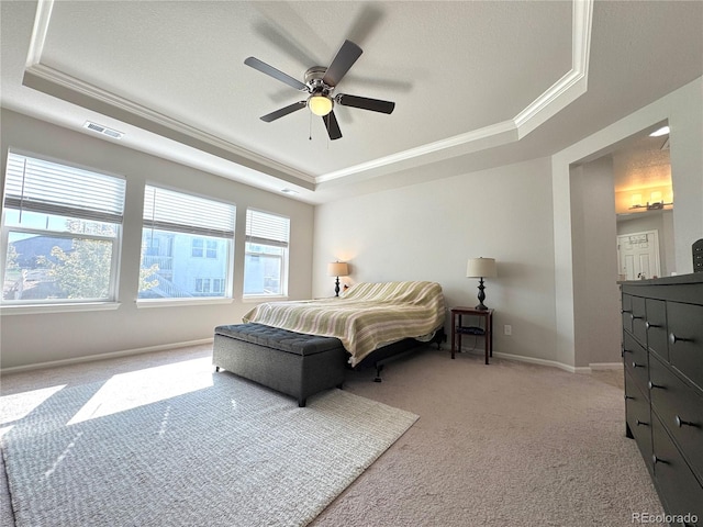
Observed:
[[[21,184],[20,187],[14,184],[12,189],[10,189],[10,180],[15,181],[16,178],[20,178],[20,175],[19,172],[14,173],[12,178],[8,176],[8,170],[11,162],[23,162]],[[32,165],[33,167],[31,167]],[[45,172],[49,172],[52,168],[54,168],[56,172],[53,175],[53,180],[46,179],[42,181],[41,184],[35,186],[34,189],[25,187],[30,182],[30,179],[25,180],[25,178],[32,178],[32,172],[29,172],[29,175],[26,172],[27,167],[30,167],[32,171],[40,172],[42,166],[45,168]],[[60,171],[69,172],[72,177],[70,178],[70,180],[62,178],[60,176],[58,176]],[[71,183],[75,181],[86,182],[91,179],[93,179],[93,181],[91,181],[89,186],[91,188],[82,187],[80,189],[76,189],[75,194],[72,194],[81,195],[82,198],[88,197],[88,200],[71,200],[69,197],[71,191]],[[41,180],[37,178],[34,179],[34,181]],[[48,192],[46,189],[51,183],[58,184],[59,190],[56,192]],[[102,203],[101,199],[98,197],[98,194],[111,194],[103,192],[103,190],[96,192],[96,187],[102,187],[104,189],[104,186],[107,183],[110,183],[112,190],[115,192],[112,198],[116,201],[112,203],[112,206],[110,206],[108,203]],[[37,310],[37,312],[85,311],[103,309],[101,306],[105,306],[105,309],[115,309],[119,305],[118,291],[120,277],[120,255],[122,250],[122,222],[124,215],[124,203],[126,199],[126,181],[124,177],[105,173],[104,171],[96,170],[91,167],[81,167],[60,159],[53,159],[36,154],[10,149],[7,156],[3,187],[3,206],[2,216],[0,218],[0,277],[2,277],[3,281],[5,277],[4,273],[9,250],[10,233],[46,235],[55,238],[66,239],[109,242],[112,245],[112,250],[107,296],[85,299],[5,300],[3,298],[4,294],[2,294],[0,295],[0,307],[2,307],[2,313],[32,313],[34,312],[34,310]],[[62,194],[66,198],[62,199]],[[96,199],[93,200],[93,198]],[[87,204],[81,205],[81,201],[89,201],[91,206],[87,206]],[[71,233],[68,229],[59,229],[56,227],[48,228],[48,226],[47,228],[23,226],[21,223],[20,225],[10,226],[7,224],[7,213],[9,210],[20,211],[20,214],[23,214],[25,212],[40,213],[57,217],[109,223],[114,225],[115,234],[114,236],[108,236],[100,234]]]

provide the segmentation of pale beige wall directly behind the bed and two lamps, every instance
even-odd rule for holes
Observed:
[[[447,307],[472,306],[478,280],[466,278],[467,259],[492,257],[495,351],[555,360],[550,181],[549,160],[536,159],[319,205],[314,294],[332,293],[325,270],[338,258],[352,266],[346,281],[432,280]]]

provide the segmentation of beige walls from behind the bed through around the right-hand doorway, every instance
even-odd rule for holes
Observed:
[[[352,264],[350,281],[436,280],[448,306],[473,305],[466,259],[491,256],[499,278],[487,284],[487,304],[496,309],[498,352],[567,368],[620,362],[613,183],[604,178],[612,175],[595,170],[603,178],[576,179],[584,176],[572,167],[668,121],[676,195],[668,246],[676,255],[667,262],[691,272],[691,244],[703,237],[702,93],[699,78],[549,160],[317,206],[314,293],[330,294],[325,266],[341,259]],[[585,209],[594,199],[603,208]],[[504,324],[513,326],[512,337],[503,335]]]

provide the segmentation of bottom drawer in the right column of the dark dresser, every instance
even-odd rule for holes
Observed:
[[[703,487],[685,464],[661,422],[652,415],[655,484],[668,514],[698,517],[703,522]]]

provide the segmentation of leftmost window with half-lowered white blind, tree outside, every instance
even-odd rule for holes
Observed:
[[[121,178],[8,153],[4,304],[116,300]]]

